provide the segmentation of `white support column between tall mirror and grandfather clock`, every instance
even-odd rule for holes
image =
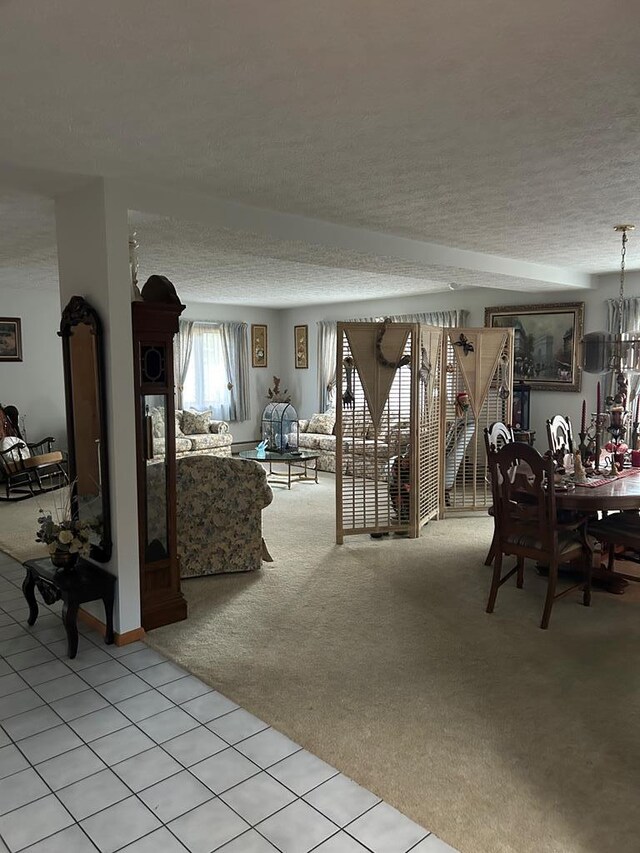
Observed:
[[[117,182],[97,178],[56,198],[60,303],[83,296],[104,329],[114,627],[140,627],[131,282],[127,205]],[[96,614],[101,618],[100,614]]]

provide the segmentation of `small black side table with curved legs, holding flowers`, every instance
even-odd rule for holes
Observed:
[[[74,658],[78,652],[78,608],[86,601],[101,598],[107,626],[104,641],[108,646],[113,643],[115,575],[83,560],[82,557],[73,569],[57,569],[48,557],[27,560],[24,567],[27,576],[22,583],[22,591],[29,605],[29,625],[33,625],[38,618],[35,587],[38,587],[46,604],[53,604],[54,601],[62,599],[62,621],[67,632],[69,657]]]

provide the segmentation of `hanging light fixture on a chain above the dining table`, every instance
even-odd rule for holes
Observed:
[[[627,373],[640,372],[640,332],[624,332],[624,270],[627,254],[628,231],[635,225],[616,225],[614,230],[622,234],[620,259],[620,293],[616,307],[617,331],[590,332],[583,338],[583,369],[587,373],[615,373],[615,402],[626,408]]]

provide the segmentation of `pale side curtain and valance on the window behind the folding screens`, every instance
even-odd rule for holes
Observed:
[[[464,326],[469,312],[427,311],[419,314],[395,314],[389,317],[395,323],[423,323],[426,326]],[[384,317],[357,317],[349,323],[381,323]],[[324,412],[335,403],[336,357],[338,352],[338,325],[335,320],[320,320],[318,323],[318,400]]]

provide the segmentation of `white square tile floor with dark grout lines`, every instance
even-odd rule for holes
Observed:
[[[452,853],[144,643],[69,660],[23,577],[0,553],[0,853]]]

